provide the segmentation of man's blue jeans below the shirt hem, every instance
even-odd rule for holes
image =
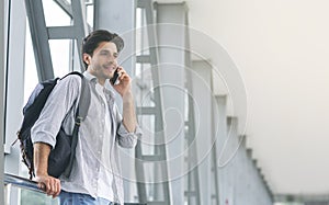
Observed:
[[[61,191],[59,194],[60,205],[116,205],[105,198],[93,198],[88,194],[79,194]]]

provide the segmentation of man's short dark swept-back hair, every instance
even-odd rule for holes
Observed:
[[[95,30],[91,32],[82,42],[82,55],[89,54],[92,56],[93,50],[99,47],[102,42],[112,42],[116,45],[117,53],[120,53],[124,47],[124,41],[116,33],[110,33],[106,30]],[[88,68],[88,65],[83,61],[84,68]]]

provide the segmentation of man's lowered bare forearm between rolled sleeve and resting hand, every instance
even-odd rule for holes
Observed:
[[[34,171],[36,175],[48,174],[48,157],[50,153],[52,147],[44,143],[34,144]]]

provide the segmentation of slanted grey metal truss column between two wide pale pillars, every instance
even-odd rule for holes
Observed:
[[[163,125],[163,106],[162,106],[162,90],[160,88],[160,67],[159,67],[159,54],[158,54],[158,41],[155,27],[154,16],[154,4],[151,0],[139,0],[137,7],[145,12],[146,18],[146,31],[147,31],[147,44],[148,55],[137,56],[137,62],[144,65],[149,64],[150,76],[152,82],[152,98],[149,103],[143,104],[137,109],[139,116],[152,116],[154,125],[150,137],[154,140],[152,153],[145,153],[144,145],[141,141],[137,143],[136,146],[136,178],[137,178],[137,191],[139,202],[147,202],[147,204],[157,205],[170,205],[171,195],[169,191],[169,176],[168,176],[168,164],[167,164],[167,148],[163,141],[166,141],[166,130]],[[144,36],[143,36],[144,37]],[[141,72],[147,72],[141,70]],[[143,79],[141,79],[143,80]],[[148,166],[152,170],[147,170],[145,167]],[[147,171],[147,172],[146,172]],[[147,180],[148,174],[151,175],[150,180]],[[160,176],[162,180],[156,178]],[[147,187],[151,187],[150,193]]]

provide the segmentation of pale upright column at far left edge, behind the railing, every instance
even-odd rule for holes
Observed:
[[[4,170],[7,173],[20,174],[21,150],[19,146],[11,147],[16,139],[19,129],[18,122],[22,118],[22,104],[24,98],[24,56],[25,56],[25,33],[26,13],[24,12],[24,1],[11,1],[8,7],[8,36],[7,36],[7,64],[5,64],[5,156]],[[22,12],[23,11],[23,12]],[[23,35],[22,35],[23,34]],[[20,203],[20,191],[11,190],[13,197],[10,204]]]

